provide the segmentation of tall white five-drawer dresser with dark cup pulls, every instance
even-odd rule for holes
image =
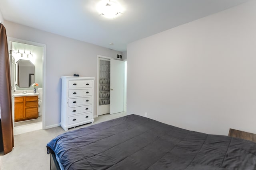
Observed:
[[[93,123],[94,77],[62,76],[61,127]]]

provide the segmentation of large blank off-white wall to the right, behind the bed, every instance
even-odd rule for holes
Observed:
[[[256,133],[256,1],[130,43],[127,111],[184,129]]]

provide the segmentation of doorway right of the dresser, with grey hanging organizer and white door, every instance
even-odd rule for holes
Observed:
[[[97,117],[124,111],[125,63],[98,55]]]

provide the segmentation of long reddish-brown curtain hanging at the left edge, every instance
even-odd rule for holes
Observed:
[[[7,154],[12,151],[12,148],[14,147],[14,140],[10,62],[6,29],[3,24],[0,25],[0,118],[4,154]]]

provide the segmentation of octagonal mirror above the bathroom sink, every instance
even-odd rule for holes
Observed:
[[[35,66],[29,60],[18,60],[15,64],[15,82],[20,88],[29,88],[35,82]]]

